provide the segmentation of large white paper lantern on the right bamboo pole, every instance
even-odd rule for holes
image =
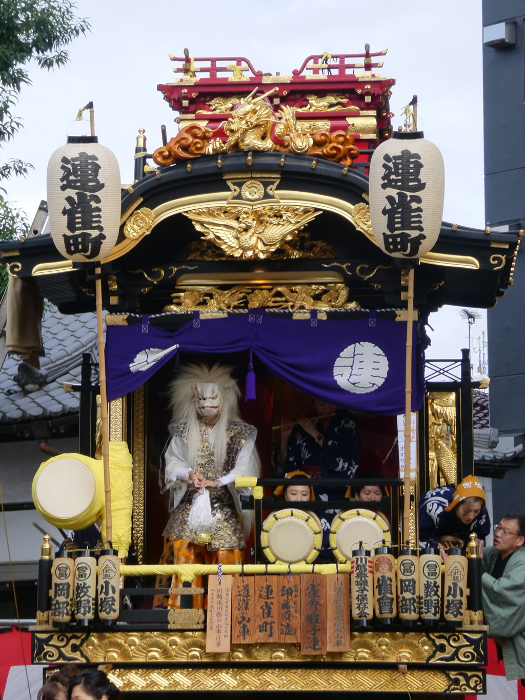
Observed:
[[[423,132],[393,132],[370,163],[370,219],[379,248],[393,258],[421,258],[440,235],[443,157]]]

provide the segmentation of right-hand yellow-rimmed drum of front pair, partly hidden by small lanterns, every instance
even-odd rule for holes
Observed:
[[[391,545],[390,526],[383,513],[365,508],[346,510],[338,513],[330,527],[330,547],[337,561],[350,561],[352,549],[358,549],[363,542],[363,549],[374,549],[385,541]]]

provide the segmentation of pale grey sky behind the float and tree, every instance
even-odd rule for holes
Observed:
[[[1,158],[34,167],[8,183],[8,196],[31,220],[45,199],[49,157],[66,141],[78,108],[92,100],[99,141],[111,148],[123,183],[133,179],[135,137],[146,129],[148,151],[160,146],[160,125],[176,134],[176,116],[158,83],[172,82],[169,54],[244,56],[263,73],[290,74],[310,54],[388,48],[382,76],[395,78],[391,111],[418,94],[426,138],[445,165],[443,218],[483,227],[482,20],[479,0],[441,0],[407,6],[391,0],[319,3],[318,0],[244,0],[181,3],[167,0],[77,0],[90,34],[71,45],[71,61],[48,73],[31,66],[15,113],[25,128]],[[432,314],[430,357],[459,356],[466,324],[455,309]],[[481,335],[484,318],[474,334]],[[468,343],[467,343],[468,344]],[[475,363],[477,364],[477,363]]]

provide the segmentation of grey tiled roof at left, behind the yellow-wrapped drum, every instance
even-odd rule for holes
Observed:
[[[27,393],[15,382],[20,358],[6,358],[0,372],[0,425],[52,419],[78,413],[78,393],[64,391],[62,382],[80,383],[82,354],[97,358],[97,318],[94,314],[48,311],[42,323],[45,357],[40,360],[47,383]]]

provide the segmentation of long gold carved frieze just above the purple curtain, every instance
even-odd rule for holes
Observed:
[[[326,311],[360,308],[358,302],[346,303],[348,294],[348,287],[342,283],[257,286],[255,288],[236,285],[227,290],[215,286],[194,286],[172,294],[172,304],[167,304],[163,311],[232,311],[241,308]]]

